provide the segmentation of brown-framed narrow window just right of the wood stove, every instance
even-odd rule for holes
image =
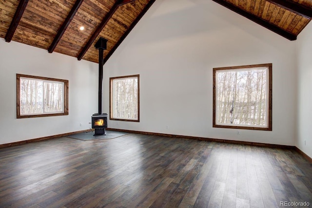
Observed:
[[[139,75],[110,78],[110,119],[139,122]]]

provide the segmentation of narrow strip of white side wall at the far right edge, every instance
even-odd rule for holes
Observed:
[[[312,23],[309,23],[299,34],[296,44],[298,56],[296,147],[312,157]]]

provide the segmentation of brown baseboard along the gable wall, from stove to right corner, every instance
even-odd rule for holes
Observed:
[[[223,142],[223,143],[231,143],[231,144],[253,145],[253,146],[259,146],[259,147],[295,149],[295,146],[289,146],[289,145],[276,145],[276,144],[267,144],[267,143],[259,143],[259,142],[245,142],[245,141],[235,141],[235,140],[227,140],[227,139],[213,139],[213,138],[206,138],[206,137],[184,136],[184,135],[156,133],[156,132],[140,132],[140,131],[132,131],[132,130],[113,129],[113,128],[107,128],[106,130],[117,131],[117,132],[148,134],[148,135],[156,135],[156,136],[179,137],[179,138],[205,140],[205,141],[213,141],[213,142]]]

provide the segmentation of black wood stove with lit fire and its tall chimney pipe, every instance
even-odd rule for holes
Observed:
[[[91,116],[92,129],[95,135],[106,135],[107,113],[102,113],[102,91],[103,91],[103,50],[106,50],[107,39],[100,37],[95,47],[98,49],[98,113]]]

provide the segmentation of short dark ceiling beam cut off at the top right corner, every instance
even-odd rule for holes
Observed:
[[[312,18],[312,8],[292,0],[266,0],[305,18]]]

